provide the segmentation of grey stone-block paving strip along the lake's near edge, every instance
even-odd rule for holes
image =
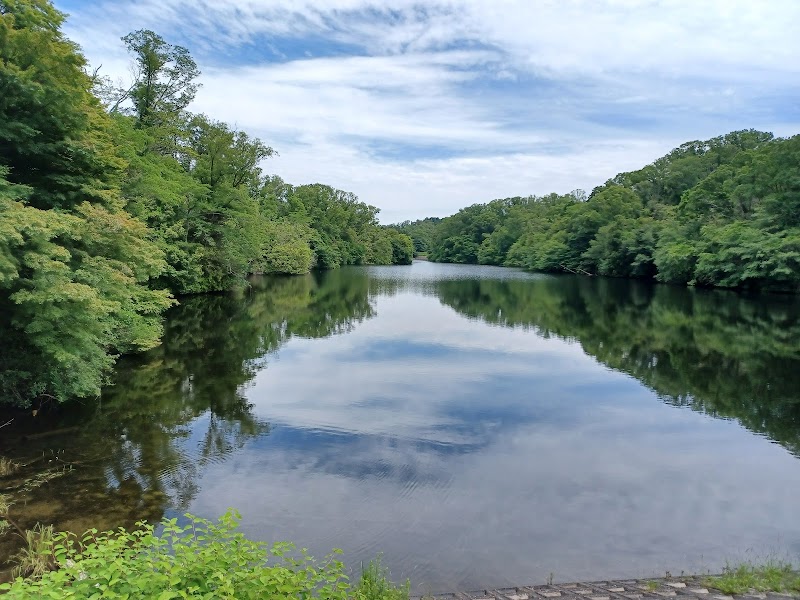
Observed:
[[[702,583],[700,577],[558,583],[417,596],[417,600],[787,600],[773,592],[728,596]]]

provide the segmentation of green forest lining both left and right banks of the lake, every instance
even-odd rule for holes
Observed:
[[[275,150],[193,114],[189,51],[134,31],[131,80],[92,71],[49,0],[0,0],[0,402],[95,397],[162,314],[253,274],[349,264],[521,267],[796,293],[800,136],[688,142],[591,194],[493,200],[386,227]]]

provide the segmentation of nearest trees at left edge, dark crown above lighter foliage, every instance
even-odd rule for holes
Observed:
[[[123,210],[122,161],[85,61],[47,2],[0,3],[0,396],[99,393],[158,343],[163,255]]]

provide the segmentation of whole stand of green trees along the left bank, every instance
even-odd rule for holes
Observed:
[[[0,0],[0,403],[97,395],[181,294],[252,273],[411,262],[378,209],[262,174],[271,147],[187,111],[189,52],[125,36],[132,80],[90,72],[49,0]]]

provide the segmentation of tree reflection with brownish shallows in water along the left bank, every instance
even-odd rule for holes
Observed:
[[[341,333],[374,314],[368,279],[342,277],[257,278],[234,293],[183,298],[162,344],[120,359],[96,403],[15,415],[0,454],[25,466],[0,490],[16,521],[83,531],[185,510],[208,463],[269,433],[245,396],[269,357],[294,336]],[[32,485],[43,473],[53,478]],[[6,534],[0,559],[19,542]]]

